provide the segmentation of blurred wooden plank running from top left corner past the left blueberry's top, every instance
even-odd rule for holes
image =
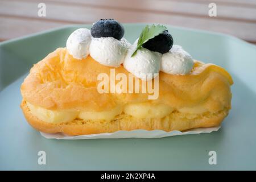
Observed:
[[[115,18],[121,22],[157,22],[175,26],[199,28],[210,31],[219,31],[250,42],[256,42],[256,23],[225,20],[217,18],[195,18],[185,15],[156,14],[148,11],[125,11],[104,9],[102,7],[87,7],[47,2],[47,16],[40,18],[37,15],[37,2],[1,1],[1,15],[15,15],[26,18],[38,18],[68,23],[94,22],[100,18]],[[43,25],[42,25],[43,26]]]

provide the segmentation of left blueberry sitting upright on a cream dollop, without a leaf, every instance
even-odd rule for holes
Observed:
[[[114,19],[100,19],[94,23],[90,29],[90,33],[94,38],[107,38],[112,36],[113,38],[120,40],[125,34],[125,30],[119,22]]]

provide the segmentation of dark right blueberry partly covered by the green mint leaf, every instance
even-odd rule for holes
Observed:
[[[150,51],[166,53],[172,48],[173,44],[174,40],[172,39],[171,34],[169,34],[168,30],[165,30],[162,34],[148,40],[142,47],[147,48]]]

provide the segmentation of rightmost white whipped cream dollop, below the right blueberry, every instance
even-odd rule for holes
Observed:
[[[192,56],[181,46],[174,45],[162,56],[160,71],[171,75],[186,75],[191,72],[194,62]]]

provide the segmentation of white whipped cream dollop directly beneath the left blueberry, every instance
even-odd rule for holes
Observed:
[[[89,52],[98,63],[108,67],[119,67],[130,45],[125,38],[121,40],[112,37],[92,38]]]

